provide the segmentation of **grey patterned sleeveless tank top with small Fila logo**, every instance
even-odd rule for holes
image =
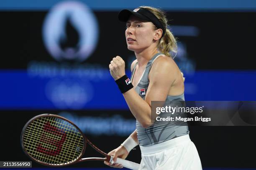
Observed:
[[[151,58],[151,60],[148,61],[148,64],[146,65],[146,68],[141,76],[141,80],[139,80],[138,85],[135,87],[136,92],[138,93],[138,95],[141,96],[143,100],[145,100],[146,92],[149,85],[148,73],[151,69],[152,63],[157,57],[159,57],[159,55],[163,55],[163,54],[157,53]],[[137,64],[138,62],[136,63],[136,65]],[[133,68],[133,71],[131,73],[131,81],[133,80],[133,74],[136,70],[136,65]],[[165,107],[165,105],[168,105],[173,100],[184,101],[184,93],[182,95],[177,95],[177,96],[167,95],[165,104],[163,107]],[[141,123],[138,122],[138,120],[136,120],[136,129],[138,134],[139,145],[141,146],[150,146],[157,143],[162,143],[167,140],[171,140],[173,138],[177,138],[182,135],[189,134],[187,124],[180,126],[180,125],[172,124],[171,122],[162,123],[162,122],[156,121],[150,127],[143,128]]]

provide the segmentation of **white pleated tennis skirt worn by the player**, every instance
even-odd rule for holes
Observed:
[[[197,148],[189,135],[140,148],[139,170],[202,170]]]

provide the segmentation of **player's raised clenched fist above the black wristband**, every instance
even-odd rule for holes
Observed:
[[[123,77],[125,75],[124,60],[119,56],[114,57],[110,62],[109,70],[114,80],[118,80],[119,78]]]

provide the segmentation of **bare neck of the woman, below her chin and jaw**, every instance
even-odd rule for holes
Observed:
[[[145,49],[141,52],[135,52],[137,61],[138,61],[138,67],[145,66],[148,61],[153,57],[155,54],[158,53],[157,48],[154,49]]]

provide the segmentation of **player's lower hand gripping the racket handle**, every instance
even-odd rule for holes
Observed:
[[[114,167],[114,168],[123,168],[123,165],[122,164],[119,164],[119,163],[115,163],[117,158],[122,158],[122,159],[125,159],[127,156],[128,156],[128,151],[125,149],[125,147],[123,146],[119,146],[118,148],[110,151],[108,153],[108,155],[112,155],[113,156],[113,160],[114,160],[114,163],[111,164],[107,161],[104,161],[104,163],[110,167]]]

